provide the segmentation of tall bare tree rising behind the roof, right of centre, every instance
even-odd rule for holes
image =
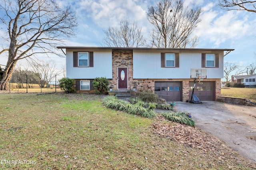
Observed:
[[[195,47],[197,37],[191,37],[196,29],[202,9],[188,9],[183,0],[160,0],[156,6],[148,7],[148,21],[154,25],[151,47],[185,48]]]

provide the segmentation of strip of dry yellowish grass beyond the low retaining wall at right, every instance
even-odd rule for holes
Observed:
[[[221,88],[222,96],[250,99],[256,102],[256,88]]]

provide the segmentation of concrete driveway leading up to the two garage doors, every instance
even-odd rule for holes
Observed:
[[[214,101],[204,101],[203,104],[176,102],[174,110],[188,111],[196,127],[256,163],[256,107]]]

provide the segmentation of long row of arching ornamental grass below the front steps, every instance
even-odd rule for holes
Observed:
[[[157,115],[154,109],[152,109],[154,108],[154,106],[144,108],[142,106],[142,103],[131,104],[129,102],[125,102],[123,100],[117,99],[114,96],[106,97],[103,101],[103,104],[108,108],[124,111],[132,115],[140,115],[142,117],[147,117],[147,118],[153,118],[153,117],[156,117]]]

